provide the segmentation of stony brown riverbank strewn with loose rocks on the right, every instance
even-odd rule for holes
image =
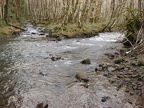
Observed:
[[[117,91],[124,89],[126,101],[137,108],[144,107],[144,53],[129,55],[129,49],[121,49],[120,53],[105,54],[110,64],[103,67],[107,73],[103,75],[108,78]]]

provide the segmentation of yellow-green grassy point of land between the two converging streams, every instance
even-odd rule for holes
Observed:
[[[99,33],[105,25],[104,23],[86,23],[79,28],[77,24],[49,24],[46,26],[46,32],[51,32],[51,37],[90,37]]]

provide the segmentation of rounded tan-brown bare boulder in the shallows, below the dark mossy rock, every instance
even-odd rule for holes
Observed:
[[[75,75],[75,78],[78,80],[78,81],[83,81],[83,82],[88,82],[89,79],[88,79],[88,76],[86,75],[86,73],[84,72],[79,72]]]

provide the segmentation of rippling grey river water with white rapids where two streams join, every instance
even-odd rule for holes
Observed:
[[[85,39],[48,41],[40,28],[26,25],[19,37],[0,43],[0,107],[16,97],[16,108],[35,108],[47,101],[49,108],[131,108],[125,93],[117,91],[95,67],[109,62],[105,53],[122,47],[120,33],[100,33]],[[52,60],[52,57],[59,58]],[[90,65],[81,64],[89,58]],[[86,72],[90,85],[75,82],[77,72]],[[110,99],[102,102],[104,96]]]

